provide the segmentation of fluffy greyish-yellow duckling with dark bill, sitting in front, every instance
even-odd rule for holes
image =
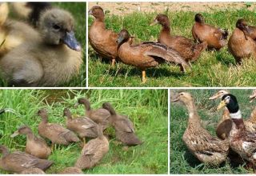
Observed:
[[[41,40],[23,42],[0,58],[2,78],[9,86],[58,86],[68,82],[82,64],[81,46],[73,30],[70,13],[46,10],[39,21]]]

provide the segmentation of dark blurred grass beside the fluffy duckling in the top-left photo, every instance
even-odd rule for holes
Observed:
[[[70,11],[75,20],[74,33],[82,45],[83,64],[80,73],[66,82],[63,87],[84,87],[86,86],[86,2],[53,2],[54,7]],[[0,79],[0,86],[7,86],[6,82]]]

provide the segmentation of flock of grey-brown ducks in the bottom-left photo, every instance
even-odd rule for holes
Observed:
[[[70,110],[65,108],[63,116],[66,117],[66,128],[57,123],[48,122],[47,110],[38,110],[42,121],[38,124],[36,136],[30,126],[20,126],[11,135],[26,135],[25,152],[12,153],[6,146],[0,145],[0,169],[18,174],[44,174],[54,162],[47,160],[55,145],[68,146],[73,142],[82,142],[82,151],[74,166],[67,167],[58,174],[82,174],[82,170],[90,169],[98,164],[109,151],[108,138],[103,131],[110,126],[114,127],[116,139],[124,146],[137,146],[142,144],[135,134],[133,122],[126,115],[118,114],[110,102],[105,102],[102,108],[92,110],[86,98],[79,98],[78,105],[85,107],[85,115],[73,118]],[[0,110],[3,114],[5,110]],[[78,135],[78,136],[77,136]],[[91,138],[86,142],[86,138]],[[47,145],[45,139],[51,142]]]

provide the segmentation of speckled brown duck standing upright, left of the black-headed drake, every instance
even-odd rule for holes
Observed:
[[[202,127],[192,95],[181,92],[172,100],[172,102],[178,101],[182,102],[189,111],[188,125],[182,136],[186,147],[201,162],[219,165],[226,161],[229,153],[229,142],[215,138]]]

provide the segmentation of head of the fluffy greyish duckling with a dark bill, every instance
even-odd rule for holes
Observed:
[[[74,18],[66,10],[46,10],[39,20],[42,38],[49,45],[62,45],[72,50],[81,50],[81,46],[74,37]]]

